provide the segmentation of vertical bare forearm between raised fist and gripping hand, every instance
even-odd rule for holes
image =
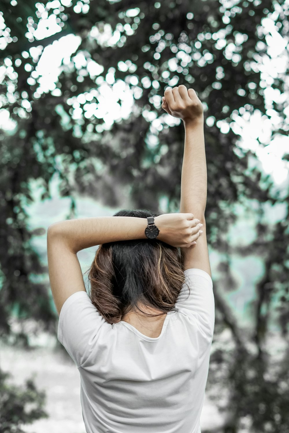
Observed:
[[[193,213],[200,220],[207,203],[207,163],[203,117],[194,123],[184,123],[185,146],[181,178],[181,213]]]

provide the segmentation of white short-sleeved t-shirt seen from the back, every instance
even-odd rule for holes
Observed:
[[[77,365],[87,433],[200,433],[214,332],[213,282],[186,269],[157,338],[111,325],[78,291],[63,304],[58,340]],[[149,327],[149,325],[148,325]]]

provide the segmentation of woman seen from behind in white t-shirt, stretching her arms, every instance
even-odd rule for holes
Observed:
[[[47,233],[58,339],[80,373],[87,433],[201,432],[214,331],[203,106],[180,85],[162,108],[185,127],[180,213],[122,210]],[[76,254],[95,245],[88,296]]]

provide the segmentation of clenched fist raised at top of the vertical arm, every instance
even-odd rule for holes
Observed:
[[[194,89],[188,89],[184,84],[178,87],[167,87],[162,97],[162,108],[171,116],[191,122],[202,119],[204,107]]]

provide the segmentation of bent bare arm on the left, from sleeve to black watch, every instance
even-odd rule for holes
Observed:
[[[49,281],[58,315],[65,301],[86,291],[77,252],[84,248],[145,236],[146,218],[104,216],[54,223],[47,231]]]

